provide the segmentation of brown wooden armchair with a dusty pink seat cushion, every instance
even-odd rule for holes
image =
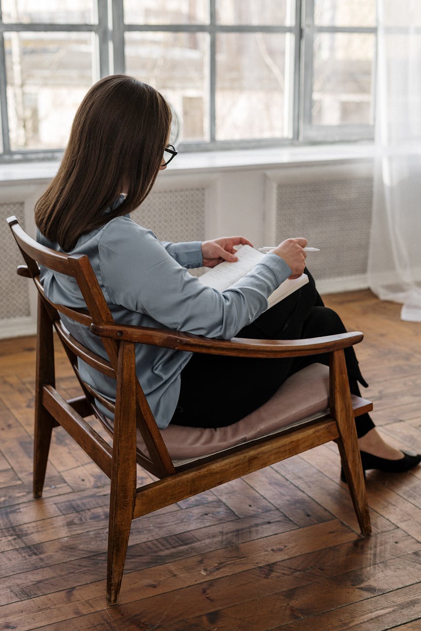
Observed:
[[[119,596],[132,519],[329,440],[338,444],[362,534],[371,532],[353,416],[371,410],[372,404],[350,395],[343,354],[344,348],[362,340],[362,333],[287,341],[239,338],[227,341],[121,326],[112,319],[87,256],[68,256],[47,249],[28,237],[15,217],[10,217],[8,223],[26,263],[18,268],[18,273],[32,277],[39,291],[33,495],[36,498],[42,495],[51,432],[61,425],[111,481],[109,604],[115,604]],[[39,264],[73,276],[87,309],[74,310],[49,302],[39,280]],[[109,360],[74,339],[59,314],[90,327],[100,336]],[[83,396],[69,401],[56,390],[53,329],[83,390]],[[136,377],[135,344],[241,357],[329,353],[330,366],[328,369],[315,364],[293,375],[262,408],[234,426],[221,428],[222,434],[212,430],[209,439],[209,430],[171,425],[166,430],[158,429]],[[115,405],[80,379],[78,358],[116,379]],[[104,415],[98,405],[109,414]],[[109,430],[112,447],[85,420],[92,414]],[[136,488],[136,463],[158,480]]]

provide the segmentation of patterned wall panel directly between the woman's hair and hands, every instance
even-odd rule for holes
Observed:
[[[153,191],[131,218],[155,232],[162,241],[203,241],[206,225],[206,189]],[[205,268],[190,269],[200,276]]]

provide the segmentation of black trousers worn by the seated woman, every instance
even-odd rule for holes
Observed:
[[[345,333],[339,315],[324,306],[311,274],[305,272],[307,285],[261,314],[237,336],[304,339]],[[367,383],[353,348],[345,349],[345,360],[350,390],[360,395],[358,382]],[[328,355],[254,359],[196,353],[181,372],[181,392],[171,422],[188,427],[231,425],[268,401],[290,375],[316,362],[328,365]],[[359,437],[374,427],[368,414],[358,416],[355,425]]]

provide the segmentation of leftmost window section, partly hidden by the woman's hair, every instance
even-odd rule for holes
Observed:
[[[1,0],[3,155],[49,155],[67,143],[74,113],[99,76],[95,0]],[[98,20],[99,10],[105,16]],[[104,48],[107,42],[102,44]],[[105,66],[108,65],[105,59]],[[104,68],[105,70],[105,68]]]

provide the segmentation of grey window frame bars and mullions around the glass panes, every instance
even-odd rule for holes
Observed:
[[[208,33],[210,38],[209,95],[210,119],[208,121],[209,141],[179,143],[177,150],[215,151],[241,150],[274,146],[296,146],[312,143],[331,143],[374,138],[372,125],[323,126],[311,122],[312,110],[312,68],[314,37],[317,33],[373,33],[377,45],[376,27],[323,27],[314,24],[314,0],[295,0],[293,11],[295,20],[292,26],[274,25],[222,25],[216,23],[216,0],[209,0],[209,21],[203,24],[126,24],[124,23],[124,0],[95,0],[97,23],[3,23],[0,0],[0,114],[3,136],[3,153],[0,163],[21,162],[23,160],[54,160],[62,155],[62,148],[56,150],[19,150],[10,148],[6,59],[4,33],[7,32],[90,32],[95,38],[93,47],[93,81],[107,74],[124,74],[124,35],[131,32],[185,32]],[[339,0],[338,0],[339,1]],[[222,141],[215,138],[215,88],[216,88],[216,35],[218,33],[290,33],[294,37],[294,63],[292,64],[292,90],[290,91],[291,128],[288,138],[242,139]],[[372,68],[372,86],[376,81],[376,55]],[[95,76],[96,75],[96,76]],[[374,109],[372,87],[372,108]]]

